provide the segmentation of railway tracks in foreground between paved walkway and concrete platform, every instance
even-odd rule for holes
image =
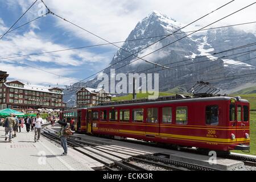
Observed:
[[[60,137],[56,135],[57,132],[45,129],[46,126],[43,127],[43,136],[60,144]],[[72,147],[74,150],[79,151],[80,153],[89,156],[90,158],[96,160],[105,165],[105,170],[115,171],[115,170],[125,170],[125,171],[148,171],[154,168],[162,168],[171,171],[216,171],[216,169],[197,166],[195,164],[189,164],[184,162],[177,162],[171,159],[163,159],[153,155],[137,155],[132,156],[129,159],[122,158],[120,155],[127,155],[127,150],[114,150],[109,146],[109,148],[100,146],[99,144],[92,142],[85,142],[82,140],[77,140],[76,138],[67,139],[68,146]],[[82,148],[82,150],[81,150]],[[90,148],[90,149],[89,149]],[[87,151],[87,152],[86,152]],[[88,153],[93,153],[102,158],[108,159],[114,163],[114,166],[109,166],[109,163],[102,161],[101,159],[96,158],[93,155]],[[138,154],[136,150],[129,150],[130,154]],[[105,155],[103,155],[105,154]],[[106,156],[108,155],[108,156]],[[112,156],[112,157],[111,157]],[[121,161],[114,160],[113,158],[122,159]],[[141,164],[147,164],[146,167],[142,167]],[[149,169],[148,169],[149,168]]]

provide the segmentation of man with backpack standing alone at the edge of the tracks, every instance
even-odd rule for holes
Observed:
[[[61,125],[60,141],[61,141],[61,147],[63,147],[63,150],[64,150],[62,155],[68,155],[67,138],[73,132],[71,131],[70,124],[68,123],[67,119],[65,119],[65,122],[58,121],[58,123]]]

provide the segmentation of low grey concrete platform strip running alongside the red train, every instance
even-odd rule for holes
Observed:
[[[48,126],[48,129],[51,129],[53,131],[59,131],[60,127],[58,125],[55,125],[54,127]],[[148,154],[163,154],[163,155],[169,156],[169,159],[172,159],[172,160],[177,160],[180,162],[186,162],[191,164],[197,164],[199,166],[205,166],[205,167],[224,170],[224,171],[231,170],[239,166],[244,166],[244,163],[238,160],[216,158],[216,161],[215,161],[216,163],[212,164],[212,163],[209,163],[210,156],[207,156],[207,155],[192,154],[189,152],[170,150],[166,148],[148,146],[145,144],[125,142],[123,140],[113,140],[113,139],[94,137],[94,136],[85,135],[85,134],[75,134],[74,136],[79,137],[85,140],[86,142],[94,142],[99,145],[103,145],[103,146],[97,147],[97,148],[101,148],[101,150],[104,150],[106,147],[108,147],[108,150],[112,150],[109,147],[122,147],[122,150],[127,151],[127,155],[129,155],[129,150],[138,150],[138,151],[148,152]]]

